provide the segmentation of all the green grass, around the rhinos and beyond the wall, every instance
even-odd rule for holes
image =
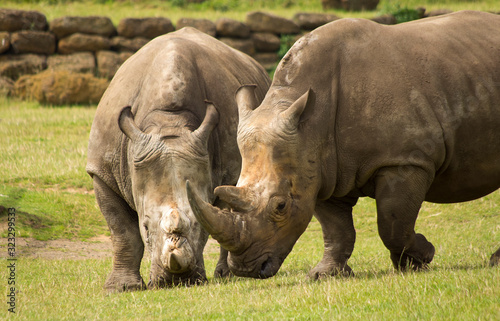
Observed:
[[[210,3],[234,3],[211,1]],[[49,21],[63,15],[122,17],[218,16],[244,20],[246,10],[265,9],[291,17],[321,11],[318,1],[248,1],[229,11],[171,6],[172,1],[5,1],[2,7],[39,10]],[[371,17],[379,12],[340,16]],[[401,6],[500,11],[496,0],[399,1]],[[259,5],[261,7],[259,7]],[[336,12],[337,13],[337,12]],[[0,97],[0,251],[7,252],[7,208],[17,211],[16,236],[39,240],[89,240],[109,235],[85,173],[90,126],[96,106],[41,106]],[[5,210],[4,210],[5,209]],[[500,320],[500,268],[488,266],[500,246],[500,191],[474,202],[424,203],[417,231],[436,247],[431,268],[393,270],[377,234],[375,203],[362,199],[354,210],[357,241],[352,278],[312,282],[309,269],[321,259],[319,223],[311,222],[278,274],[267,280],[233,278],[203,286],[108,295],[102,289],[111,259],[16,261],[16,314],[8,312],[9,270],[0,268],[0,319],[19,320]],[[205,256],[207,274],[218,254]],[[149,262],[143,262],[147,282]]]

